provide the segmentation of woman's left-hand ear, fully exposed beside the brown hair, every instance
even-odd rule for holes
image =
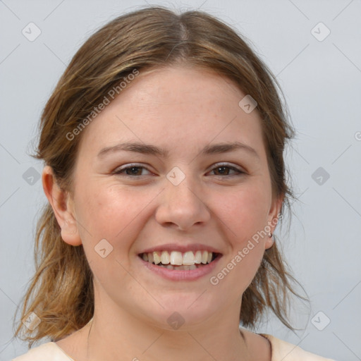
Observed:
[[[50,166],[45,166],[42,171],[42,187],[61,228],[63,241],[69,245],[81,245],[73,200],[69,193],[56,183]]]

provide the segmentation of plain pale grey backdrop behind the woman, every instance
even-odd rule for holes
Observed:
[[[257,331],[325,357],[361,360],[361,1],[149,4],[201,8],[237,27],[277,75],[298,130],[287,159],[299,201],[293,204],[295,216],[283,245],[312,307],[307,314],[296,305],[295,321],[304,329],[295,334],[272,317]],[[12,321],[34,270],[35,220],[46,200],[36,178],[42,163],[28,156],[42,108],[89,35],[124,11],[145,5],[0,1],[1,360],[27,350],[25,343],[13,341]],[[30,22],[41,30],[33,42],[22,34]],[[312,35],[319,22],[331,30],[322,39],[326,28],[314,29],[322,41]],[[312,178],[319,167],[323,173]]]

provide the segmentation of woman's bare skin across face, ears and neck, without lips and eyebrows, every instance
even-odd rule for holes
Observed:
[[[57,341],[74,360],[271,360],[269,341],[250,331],[244,341],[238,322],[241,297],[273,240],[260,238],[216,286],[209,282],[281,209],[259,114],[238,106],[243,97],[233,82],[200,68],[140,71],[82,131],[73,191],[60,190],[44,168],[44,192],[62,238],[82,244],[94,274],[91,327]],[[126,141],[167,149],[168,157],[124,151],[97,157]],[[200,154],[206,145],[235,141],[257,156],[242,149]],[[244,173],[221,173],[220,162]],[[135,176],[114,174],[133,163],[145,168]],[[166,178],[174,166],[185,174],[179,185]],[[114,248],[102,258],[94,247],[104,238]],[[222,257],[212,274],[170,281],[138,259],[142,250],[165,243],[202,243]],[[167,322],[173,312],[185,320],[177,330]]]

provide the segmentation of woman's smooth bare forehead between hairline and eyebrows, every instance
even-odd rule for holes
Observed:
[[[87,152],[129,140],[183,153],[213,141],[262,147],[257,110],[247,114],[238,105],[245,95],[228,78],[201,68],[140,71],[87,126],[82,142]]]

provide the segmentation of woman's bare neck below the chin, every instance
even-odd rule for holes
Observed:
[[[212,315],[202,324],[184,324],[171,331],[118,308],[109,312],[108,307],[95,307],[85,332],[85,360],[251,360],[239,331],[240,308],[236,307]]]

